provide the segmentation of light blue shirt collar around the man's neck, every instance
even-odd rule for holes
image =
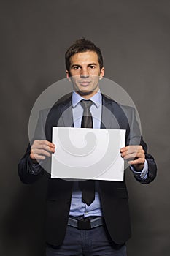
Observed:
[[[77,94],[76,91],[73,91],[72,93],[72,107],[75,108],[77,104],[84,99],[79,94]],[[100,89],[96,94],[93,95],[93,97],[89,98],[91,101],[93,101],[94,105],[96,105],[97,108],[101,105],[101,91]]]

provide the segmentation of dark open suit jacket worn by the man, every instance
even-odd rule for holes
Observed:
[[[147,180],[150,183],[156,176],[156,165],[153,157],[147,154],[147,145],[142,140],[139,126],[136,122],[134,109],[118,105],[117,102],[103,95],[103,108],[101,116],[101,129],[125,129],[126,145],[141,144],[144,148],[149,173]],[[47,116],[47,113],[46,113]],[[39,124],[36,127],[36,139],[51,141],[52,127],[73,127],[72,98],[66,99],[50,110],[45,122],[45,111],[40,113]],[[139,143],[138,143],[139,142]],[[20,160],[18,173],[21,181],[26,184],[33,183],[42,176],[42,169],[38,175],[31,174],[31,161],[29,159],[30,146]],[[128,209],[128,192],[125,181],[99,181],[101,206],[107,230],[116,244],[124,244],[131,236],[131,223]],[[72,198],[72,181],[50,178],[47,189],[47,243],[54,246],[62,244],[69,217],[69,208]]]

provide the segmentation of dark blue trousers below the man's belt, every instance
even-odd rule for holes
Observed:
[[[67,226],[61,246],[47,245],[46,256],[126,256],[126,246],[115,244],[102,225],[91,230]]]

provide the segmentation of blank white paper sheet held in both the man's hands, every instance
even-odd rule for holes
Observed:
[[[123,181],[123,129],[53,127],[51,177]]]

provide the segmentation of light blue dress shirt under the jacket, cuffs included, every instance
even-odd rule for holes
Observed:
[[[83,108],[80,105],[80,101],[84,99],[75,91],[72,94],[72,114],[73,114],[73,121],[74,127],[80,128],[81,121],[82,121],[82,113]],[[98,91],[93,97],[90,98],[93,101],[93,105],[90,107],[90,112],[92,113],[93,117],[93,128],[100,129],[101,127],[101,110],[102,110],[102,95],[101,92]],[[147,178],[148,173],[148,166],[147,161],[144,162],[144,168],[141,172],[136,172],[134,168],[131,166],[131,170],[134,172],[134,175],[139,180]],[[33,170],[31,171],[33,174],[39,173],[39,165],[34,164]],[[95,191],[95,200],[93,203],[88,206],[86,203],[82,202],[82,192],[78,186],[78,182],[74,181],[74,186],[72,189],[72,202],[70,207],[70,216],[78,217],[90,217],[90,216],[103,216],[102,208],[101,208],[101,200],[99,197],[98,192],[98,181],[95,182],[96,184],[96,191]]]

